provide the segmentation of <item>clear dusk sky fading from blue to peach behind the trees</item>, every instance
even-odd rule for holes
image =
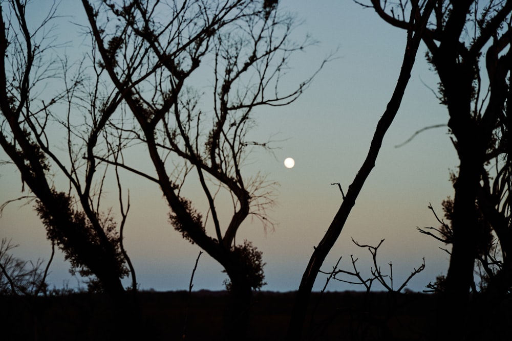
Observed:
[[[38,1],[32,6],[44,7],[49,3]],[[254,113],[258,126],[251,136],[274,140],[275,149],[273,153],[255,151],[244,171],[260,171],[280,184],[275,191],[276,205],[269,211],[276,224],[274,229],[265,230],[258,220],[249,218],[239,230],[237,241],[251,240],[263,252],[267,283],[263,290],[291,291],[298,288],[313,246],[323,237],[342,202],[337,186],[331,184],[340,183],[346,191],[364,161],[398,77],[406,32],[389,26],[374,11],[349,0],[285,0],[280,6],[303,21],[294,33],[297,37],[309,33],[318,40],[316,46],[292,59],[287,75],[290,84],[306,79],[327,55],[335,52],[335,58],[294,103],[259,108]],[[81,4],[62,2],[58,11],[72,15],[60,20],[59,25],[68,28],[61,34],[74,34],[70,28],[76,26],[69,21],[83,20]],[[82,41],[70,39],[77,46]],[[439,223],[428,206],[432,203],[441,216],[442,200],[453,195],[449,177],[450,171],[456,170],[458,159],[447,127],[426,130],[408,144],[395,147],[416,131],[446,124],[448,120],[446,109],[432,92],[438,80],[424,53],[425,47],[421,46],[402,105],[383,141],[375,168],[324,262],[324,271],[332,270],[339,257],[342,259],[338,267],[352,270],[353,255],[358,259],[356,264],[362,276],[370,277],[371,255],[368,249],[355,246],[353,238],[367,245],[377,245],[385,239],[377,260],[384,273],[389,273],[388,264],[393,264],[395,287],[422,264],[423,258],[425,270],[411,280],[409,289],[421,291],[436,276],[446,274],[449,255],[439,248],[444,245],[420,234],[417,227],[437,228]],[[134,152],[133,157],[145,162],[142,152]],[[287,157],[295,160],[291,169],[283,164]],[[0,152],[0,160],[5,158],[5,153]],[[140,288],[188,290],[199,247],[183,240],[169,225],[167,205],[156,186],[129,174],[124,176],[125,187],[131,193],[124,243]],[[12,166],[0,166],[0,202],[26,195],[21,189],[19,173]],[[117,194],[111,194],[115,205]],[[193,193],[190,197],[197,196],[194,202],[201,209],[204,199],[199,195]],[[13,251],[15,256],[48,260],[51,244],[45,235],[32,203],[14,202],[5,208],[0,218],[0,238],[19,244]],[[58,252],[50,268],[50,284],[83,287],[68,269],[69,264]],[[194,290],[222,290],[226,278],[222,267],[203,254],[195,272]],[[327,275],[319,274],[314,290],[322,289],[326,278]],[[130,280],[125,283],[129,285]],[[383,289],[378,283],[373,288]],[[361,286],[336,281],[327,286],[331,291],[360,289]]]

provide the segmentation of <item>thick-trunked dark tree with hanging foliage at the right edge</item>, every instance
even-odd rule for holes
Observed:
[[[368,5],[383,20],[403,29],[409,28],[404,19],[408,6],[408,1]],[[506,255],[510,255],[511,11],[510,1],[438,1],[434,20],[423,36],[428,60],[439,76],[438,96],[448,109],[448,126],[460,161],[450,213],[453,247],[446,291],[461,300],[467,299],[475,259],[488,233],[481,214],[500,240],[507,264],[504,274],[510,271]]]

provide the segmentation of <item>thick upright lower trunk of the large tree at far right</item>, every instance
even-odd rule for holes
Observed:
[[[469,332],[469,294],[474,286],[473,274],[479,241],[485,237],[484,224],[479,222],[476,204],[485,148],[478,141],[478,129],[465,128],[456,143],[460,165],[454,184],[453,246],[445,282],[445,307],[439,310],[438,316],[439,324],[453,322],[443,335],[446,340],[465,339]],[[454,319],[454,316],[457,318]]]

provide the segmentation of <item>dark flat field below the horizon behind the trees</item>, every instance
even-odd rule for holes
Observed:
[[[225,292],[140,292],[140,314],[131,321],[98,294],[65,297],[0,297],[0,340],[115,340],[141,330],[147,340],[217,340],[223,335]],[[282,340],[294,293],[254,295],[249,338]],[[308,340],[436,340],[450,326],[440,321],[433,294],[314,293],[308,315]],[[474,308],[476,311],[481,308]],[[314,312],[313,312],[314,310]],[[509,339],[510,303],[470,314],[469,339]],[[133,336],[133,335],[132,335]]]

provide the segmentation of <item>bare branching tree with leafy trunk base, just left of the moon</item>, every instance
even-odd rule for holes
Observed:
[[[109,135],[119,137],[119,155],[142,144],[155,172],[129,158],[95,156],[159,186],[174,228],[224,267],[229,328],[238,321],[228,337],[241,337],[233,335],[246,326],[252,290],[264,285],[264,262],[251,242],[237,243],[236,236],[250,215],[271,224],[265,210],[273,203],[272,181],[243,175],[248,152],[269,147],[248,140],[247,132],[255,108],[287,105],[309,85],[312,78],[283,88],[281,79],[290,56],[313,42],[292,41],[294,18],[275,1],[82,3],[99,66],[133,118],[110,120]],[[184,194],[190,182],[201,186],[203,212]],[[217,199],[225,193],[227,221]]]

